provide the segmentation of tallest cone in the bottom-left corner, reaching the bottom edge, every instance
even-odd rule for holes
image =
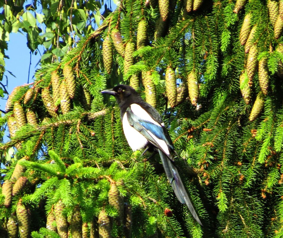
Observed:
[[[19,233],[21,238],[29,238],[30,231],[30,219],[29,219],[29,212],[26,207],[22,204],[21,200],[17,204],[17,219],[18,219],[18,226],[19,226]]]

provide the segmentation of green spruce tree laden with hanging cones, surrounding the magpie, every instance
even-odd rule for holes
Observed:
[[[121,1],[10,95],[1,237],[283,237],[282,21],[282,0]],[[162,115],[203,227],[129,148],[118,83]]]

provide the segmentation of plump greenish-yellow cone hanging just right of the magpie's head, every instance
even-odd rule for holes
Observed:
[[[151,104],[151,106],[156,107],[156,91],[155,85],[151,77],[152,76],[150,71],[142,72],[143,85],[146,94],[146,102]]]

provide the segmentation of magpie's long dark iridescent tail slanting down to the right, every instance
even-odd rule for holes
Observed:
[[[189,195],[182,183],[181,177],[177,171],[177,168],[173,165],[172,161],[163,153],[160,149],[158,149],[159,155],[167,175],[167,178],[173,188],[173,191],[178,198],[178,200],[182,204],[186,204],[190,212],[192,213],[193,217],[196,219],[198,224],[202,226],[201,221],[196,213],[195,208],[193,207],[192,202],[190,201]]]

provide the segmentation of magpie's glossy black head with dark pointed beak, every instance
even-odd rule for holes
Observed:
[[[101,93],[113,95],[116,98],[120,107],[129,106],[132,103],[136,103],[140,98],[140,95],[131,86],[120,84],[112,89],[105,89]]]

